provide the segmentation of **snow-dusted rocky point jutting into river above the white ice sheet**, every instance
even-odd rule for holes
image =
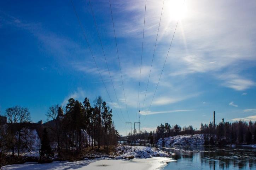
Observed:
[[[173,153],[162,151],[156,147],[149,146],[118,146],[116,154],[117,159],[131,158],[151,158],[151,157],[168,157]]]

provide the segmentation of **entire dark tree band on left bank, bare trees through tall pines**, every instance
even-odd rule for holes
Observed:
[[[120,137],[112,120],[112,109],[101,96],[96,97],[93,105],[87,97],[82,103],[70,98],[66,106],[53,105],[48,108],[47,121],[42,125],[31,123],[27,107],[7,108],[4,116],[7,124],[0,123],[1,161],[7,152],[19,158],[21,150],[28,149],[35,141],[33,129],[40,138],[40,159],[52,157],[53,151],[59,157],[79,155],[87,147],[108,151]]]

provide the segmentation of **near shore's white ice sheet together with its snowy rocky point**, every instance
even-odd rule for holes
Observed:
[[[104,154],[105,155],[105,154]],[[113,169],[113,170],[134,170],[145,169],[155,170],[165,165],[167,162],[174,161],[169,156],[173,153],[162,151],[156,147],[148,146],[118,146],[113,155],[93,154],[94,159],[85,158],[85,160],[75,162],[59,162],[39,164],[27,162],[24,164],[14,164],[4,166],[4,169]],[[141,159],[147,158],[147,159]]]

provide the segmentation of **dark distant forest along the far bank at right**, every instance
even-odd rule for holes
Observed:
[[[252,121],[249,121],[249,123],[245,121],[230,123],[222,119],[217,125],[214,125],[213,122],[209,122],[208,125],[201,124],[199,130],[194,129],[191,125],[181,128],[179,125],[171,127],[169,123],[165,123],[157,126],[156,131],[151,133],[155,134],[155,138],[151,140],[154,142],[160,138],[169,136],[203,133],[206,134],[206,145],[256,144],[256,122]]]

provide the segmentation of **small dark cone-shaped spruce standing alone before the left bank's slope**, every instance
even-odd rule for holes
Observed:
[[[41,159],[49,160],[50,157],[53,157],[53,151],[51,149],[50,141],[48,138],[48,132],[46,131],[46,128],[44,128],[41,141],[40,161]]]

